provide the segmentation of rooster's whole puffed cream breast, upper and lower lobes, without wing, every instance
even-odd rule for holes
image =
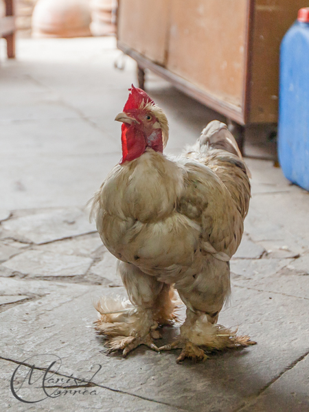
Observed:
[[[176,211],[184,174],[153,150],[114,168],[93,201],[98,231],[113,255],[148,268],[191,263],[200,228]]]

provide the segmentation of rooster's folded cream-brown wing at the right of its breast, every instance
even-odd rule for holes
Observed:
[[[206,165],[183,160],[185,194],[179,211],[201,227],[201,249],[228,261],[236,252],[243,231],[242,215],[231,193]]]

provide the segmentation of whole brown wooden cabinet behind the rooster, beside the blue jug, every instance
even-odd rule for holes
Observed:
[[[117,45],[240,125],[277,122],[279,44],[304,0],[119,0]],[[141,84],[142,85],[142,84]]]

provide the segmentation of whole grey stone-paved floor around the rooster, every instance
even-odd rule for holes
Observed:
[[[115,69],[113,38],[22,39],[17,56],[1,43],[2,410],[309,411],[309,194],[273,166],[273,142],[249,130],[253,196],[220,314],[258,345],[196,365],[146,347],[106,356],[93,301],[125,291],[85,204],[121,157],[113,119],[135,65]],[[223,119],[155,76],[147,86],[170,120],[168,152]]]

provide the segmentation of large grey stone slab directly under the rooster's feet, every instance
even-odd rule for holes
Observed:
[[[33,281],[21,282],[35,289]],[[176,365],[179,351],[157,354],[145,347],[126,359],[106,356],[93,331],[92,301],[110,290],[65,284],[53,288],[54,293],[0,314],[1,325],[8,331],[1,348],[3,358],[23,361],[34,354],[56,354],[66,373],[78,378],[89,365],[100,363],[95,383],[187,411],[235,411],[308,350],[307,302],[282,295],[269,299],[268,293],[236,288],[233,307],[222,312],[220,322],[240,325],[240,333],[251,334],[257,346],[212,355],[198,365],[190,361]],[[167,331],[170,336],[171,330]]]

